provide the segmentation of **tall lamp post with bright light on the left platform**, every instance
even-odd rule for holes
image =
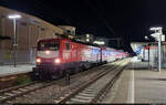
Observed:
[[[13,48],[14,48],[14,67],[17,67],[17,19],[20,19],[20,14],[10,14],[9,19],[13,20]]]

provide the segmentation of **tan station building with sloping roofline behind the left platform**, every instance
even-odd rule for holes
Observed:
[[[8,17],[20,14],[17,19],[17,63],[34,63],[35,46],[40,39],[62,36],[66,33],[74,34],[75,28],[68,25],[53,25],[37,17],[0,7],[0,65],[13,63],[13,20]],[[69,31],[70,30],[70,31]]]

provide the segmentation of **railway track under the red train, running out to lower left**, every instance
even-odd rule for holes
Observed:
[[[103,67],[98,66],[98,67]],[[91,73],[93,71],[85,71],[84,74]],[[75,77],[76,75],[73,75],[72,77]],[[49,82],[49,83],[39,83],[39,82],[32,82],[25,85],[21,85],[21,86],[14,86],[14,87],[9,87],[7,90],[1,90],[0,91],[0,103],[4,103],[7,101],[13,99],[18,96],[28,94],[30,92],[34,92],[37,90],[53,85],[55,83],[64,83],[64,78],[55,81],[55,82]],[[72,82],[72,81],[71,81]]]

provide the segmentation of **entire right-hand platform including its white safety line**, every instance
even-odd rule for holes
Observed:
[[[103,103],[166,103],[166,69],[143,69],[143,62],[123,72]],[[136,67],[135,67],[136,66]],[[142,69],[139,69],[139,67]]]

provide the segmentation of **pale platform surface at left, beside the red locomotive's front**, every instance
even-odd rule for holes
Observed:
[[[34,66],[35,65],[32,65],[32,64],[21,64],[21,65],[17,65],[17,67],[14,67],[13,65],[1,65],[0,66],[0,77],[19,74],[19,73],[31,72],[32,67],[34,67]]]

